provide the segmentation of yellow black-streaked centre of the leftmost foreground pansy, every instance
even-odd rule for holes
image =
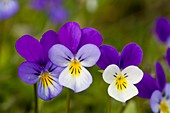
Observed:
[[[40,77],[41,77],[42,85],[44,88],[53,84],[53,79],[50,73],[44,72],[40,75]]]

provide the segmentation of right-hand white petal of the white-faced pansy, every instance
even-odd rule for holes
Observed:
[[[127,76],[127,80],[133,84],[139,83],[143,78],[143,72],[137,66],[128,66],[122,71]]]

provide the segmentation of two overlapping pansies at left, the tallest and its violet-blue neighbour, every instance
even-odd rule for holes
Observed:
[[[81,92],[92,83],[84,67],[96,64],[102,40],[97,30],[80,29],[75,22],[64,24],[58,34],[47,31],[40,42],[24,35],[16,42],[17,52],[26,59],[18,68],[19,77],[28,84],[38,82],[38,96],[43,100],[57,96],[63,86]]]

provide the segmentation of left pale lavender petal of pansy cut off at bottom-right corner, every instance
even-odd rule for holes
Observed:
[[[162,100],[162,93],[159,90],[153,92],[150,99],[150,106],[154,113],[159,113],[159,103]]]

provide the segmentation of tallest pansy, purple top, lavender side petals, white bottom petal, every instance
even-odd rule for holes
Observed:
[[[98,61],[102,36],[93,28],[80,29],[77,23],[68,22],[60,28],[58,39],[60,44],[49,50],[49,59],[64,68],[59,83],[76,93],[87,89],[92,76],[85,67]]]

